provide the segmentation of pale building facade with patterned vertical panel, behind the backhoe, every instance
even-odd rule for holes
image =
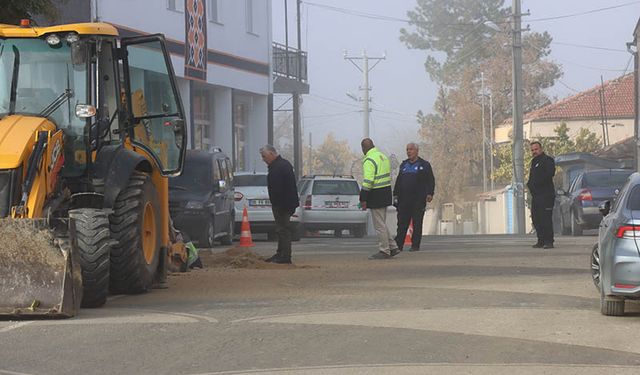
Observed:
[[[188,147],[221,148],[236,171],[264,170],[272,83],[271,0],[68,0],[60,22],[162,33],[189,121]]]

